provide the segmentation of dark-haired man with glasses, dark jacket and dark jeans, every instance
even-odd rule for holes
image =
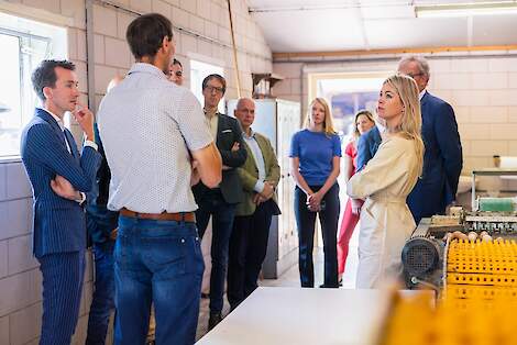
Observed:
[[[201,237],[205,234],[210,215],[212,216],[209,330],[222,320],[228,247],[235,205],[243,200],[242,185],[237,168],[244,164],[248,156],[242,140],[241,126],[235,119],[218,111],[226,88],[227,81],[220,75],[209,75],[202,81],[206,121],[222,157],[222,181],[219,187],[212,189],[206,187],[202,182],[193,188],[194,197],[199,207],[196,211],[196,222]]]

